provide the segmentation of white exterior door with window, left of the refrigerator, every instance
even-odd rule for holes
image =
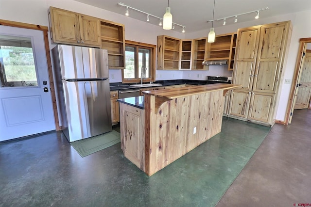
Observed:
[[[0,141],[55,129],[43,32],[0,26]]]

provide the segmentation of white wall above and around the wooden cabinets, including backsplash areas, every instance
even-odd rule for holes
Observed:
[[[166,31],[161,27],[149,24],[145,21],[139,21],[124,15],[112,13],[100,8],[89,6],[74,0],[0,0],[0,19],[24,22],[48,26],[48,8],[49,6],[59,7],[62,9],[75,11],[89,16],[95,16],[125,25],[125,38],[128,40],[144,42],[156,45],[157,35],[170,35],[176,38],[198,38],[207,36],[210,25],[202,25],[206,29],[193,32],[181,33],[175,31]],[[271,18],[262,18],[248,22],[230,23],[225,26],[215,28],[216,34],[226,32],[236,32],[238,28],[249,27],[260,24],[274,23],[279,21],[291,20],[293,23],[293,34],[289,48],[287,63],[284,65],[284,79],[293,79],[294,65],[297,57],[299,38],[311,37],[311,11],[275,16]],[[52,45],[50,45],[52,48]],[[111,82],[121,82],[121,70],[109,70]],[[160,71],[156,70],[156,80],[171,79],[192,79],[205,80],[207,75],[225,75],[229,76],[224,66],[210,66],[208,71]],[[189,77],[190,76],[190,77]],[[199,78],[198,78],[199,76]],[[112,79],[112,77],[114,79]],[[284,120],[286,113],[287,101],[290,93],[290,84],[282,85],[280,105],[277,110],[276,119]]]

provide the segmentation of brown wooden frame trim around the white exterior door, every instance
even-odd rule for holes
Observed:
[[[47,66],[48,66],[48,75],[49,75],[49,81],[50,81],[50,92],[51,92],[52,106],[53,106],[53,113],[54,113],[55,129],[56,131],[61,130],[61,127],[59,126],[59,121],[58,121],[56,96],[55,96],[55,90],[54,90],[52,62],[51,62],[51,56],[50,56],[50,45],[49,45],[49,37],[48,37],[49,28],[47,26],[15,22],[15,21],[9,21],[9,20],[4,20],[4,19],[0,19],[0,25],[25,28],[25,29],[31,29],[31,30],[40,30],[43,32],[45,53],[46,53]]]

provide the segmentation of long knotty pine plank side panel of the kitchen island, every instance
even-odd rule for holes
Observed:
[[[164,102],[155,114],[152,111],[155,96],[145,95],[147,175],[153,175],[219,133],[223,100],[222,90],[175,98]]]

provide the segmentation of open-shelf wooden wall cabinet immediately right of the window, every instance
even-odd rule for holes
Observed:
[[[180,39],[166,35],[157,36],[157,69],[179,70]]]

